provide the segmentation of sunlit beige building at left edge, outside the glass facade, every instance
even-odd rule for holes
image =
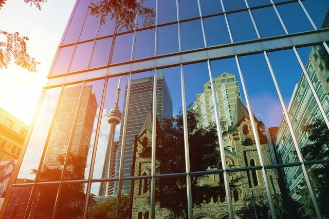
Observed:
[[[0,161],[19,158],[28,125],[0,107]]]

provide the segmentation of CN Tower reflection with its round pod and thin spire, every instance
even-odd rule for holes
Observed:
[[[120,83],[121,83],[121,76],[119,77],[119,83],[118,83],[114,106],[107,114],[107,122],[109,124],[109,134],[108,134],[108,142],[107,142],[106,154],[105,154],[104,165],[103,165],[102,178],[110,178],[111,171],[114,171],[114,165],[112,167],[111,163],[112,163],[112,158],[113,158],[112,156],[113,156],[113,152],[114,152],[115,128],[116,128],[116,125],[121,122],[121,117],[122,117],[122,114],[118,107],[119,95],[120,95],[120,91],[121,91]],[[110,183],[113,184],[113,182],[101,183],[101,186],[99,189],[99,195],[105,195],[105,196],[109,195],[108,188],[110,186]]]

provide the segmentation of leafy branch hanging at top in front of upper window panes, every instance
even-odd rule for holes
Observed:
[[[138,15],[143,18],[143,27],[155,25],[155,12],[153,9],[145,7],[143,2],[136,0],[101,0],[92,3],[89,7],[90,14],[100,17],[100,23],[105,24],[106,16],[118,21],[118,29],[125,28],[133,30],[136,28],[135,18]]]

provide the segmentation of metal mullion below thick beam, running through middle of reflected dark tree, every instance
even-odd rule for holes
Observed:
[[[183,111],[184,123],[184,149],[185,149],[185,167],[186,167],[186,189],[187,189],[187,208],[188,218],[193,218],[192,212],[192,187],[191,187],[191,169],[190,169],[190,152],[189,152],[189,133],[187,128],[187,114],[186,114],[186,101],[185,101],[185,84],[184,84],[184,69],[180,64],[180,83],[181,83],[181,102]]]

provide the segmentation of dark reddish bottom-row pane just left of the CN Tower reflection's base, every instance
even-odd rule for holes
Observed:
[[[60,191],[56,218],[82,218],[86,189],[86,183],[64,184]]]

